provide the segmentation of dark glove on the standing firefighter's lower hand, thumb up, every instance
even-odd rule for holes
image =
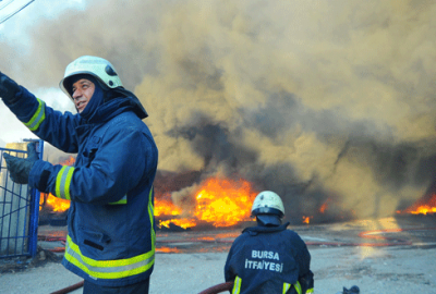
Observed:
[[[19,158],[9,154],[3,154],[4,160],[8,164],[9,174],[17,184],[28,184],[28,174],[32,167],[37,161],[38,155],[36,154],[36,143],[27,144],[27,158]]]

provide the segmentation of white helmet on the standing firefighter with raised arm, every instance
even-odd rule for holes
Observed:
[[[77,74],[89,74],[109,88],[123,86],[116,69],[109,61],[99,57],[84,56],[77,58],[66,66],[65,74],[63,75],[62,81],[59,83],[59,87],[70,98],[73,97],[71,97],[71,94],[68,89],[68,79],[70,76]]]

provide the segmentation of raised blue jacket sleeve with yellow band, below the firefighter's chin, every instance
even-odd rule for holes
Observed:
[[[53,110],[22,86],[16,95],[20,97],[17,101],[5,106],[28,130],[62,151],[77,152],[75,127],[80,122],[78,115]]]

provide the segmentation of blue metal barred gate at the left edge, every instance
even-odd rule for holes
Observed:
[[[36,142],[36,151],[39,159],[43,159],[44,140],[41,139],[24,139],[24,142]],[[26,151],[0,148],[0,172],[4,173],[4,186],[0,183],[0,248],[2,244],[5,244],[5,250],[0,250],[0,258],[5,257],[17,257],[17,256],[36,256],[37,253],[37,241],[38,241],[38,218],[39,218],[39,197],[40,193],[36,188],[27,187],[13,183],[9,176],[9,171],[3,160],[4,151],[16,152],[19,157],[25,157]],[[8,188],[10,186],[10,188]],[[27,192],[23,192],[23,188],[27,188]],[[16,193],[19,192],[19,193]],[[7,199],[7,193],[11,194],[10,199]],[[16,203],[19,201],[19,203]],[[24,203],[25,205],[22,205]],[[19,206],[17,209],[12,208]],[[9,206],[11,209],[8,211],[5,207]],[[20,213],[25,213],[20,216]],[[16,215],[16,218],[12,219],[12,215]],[[28,217],[27,217],[28,216]],[[20,221],[24,218],[24,222]],[[16,220],[15,220],[16,219]],[[15,221],[15,231],[11,232],[12,222]],[[21,223],[22,222],[22,223]],[[5,229],[9,224],[9,228]],[[8,230],[8,231],[4,231]],[[12,234],[11,234],[12,233]],[[27,242],[26,246],[24,246]],[[17,244],[21,243],[23,246],[21,250],[17,248]],[[10,247],[10,244],[14,244]],[[3,246],[4,247],[4,246]],[[4,249],[4,248],[3,248]]]

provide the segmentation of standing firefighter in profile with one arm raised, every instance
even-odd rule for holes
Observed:
[[[155,262],[153,181],[158,150],[147,117],[110,62],[81,57],[61,89],[77,114],[48,107],[0,73],[0,97],[33,133],[77,154],[74,167],[4,156],[14,182],[71,200],[63,266],[84,293],[148,293]],[[31,145],[31,144],[29,144]]]

